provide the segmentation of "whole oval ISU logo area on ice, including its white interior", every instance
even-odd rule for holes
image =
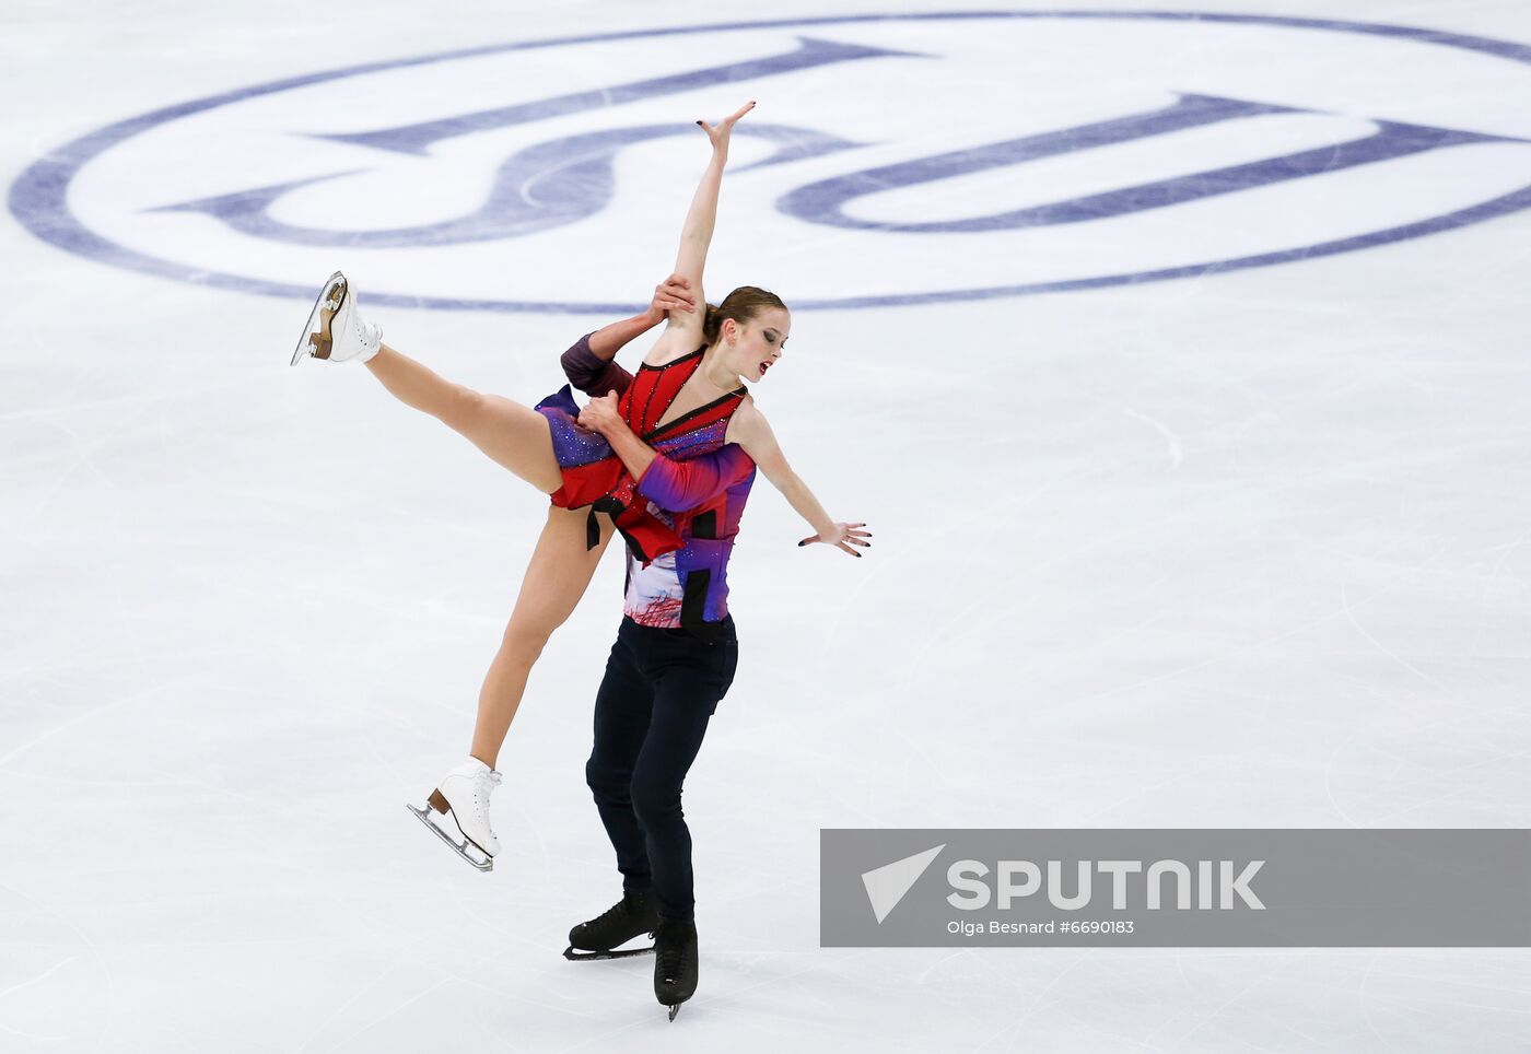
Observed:
[[[1242,14],[664,28],[171,106],[52,151],[9,203],[54,245],[185,281],[299,295],[338,252],[377,304],[614,312],[632,268],[612,233],[648,243],[646,217],[674,211],[655,199],[701,164],[669,141],[750,95],[727,208],[752,239],[723,252],[790,272],[818,297],[799,307],[974,300],[1289,263],[1526,208],[1528,67],[1508,41]]]

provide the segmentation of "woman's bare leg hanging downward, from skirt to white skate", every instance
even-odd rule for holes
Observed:
[[[588,516],[589,509],[548,508],[548,522],[531,552],[510,624],[505,626],[505,636],[479,691],[472,754],[490,768],[499,759],[499,748],[521,705],[533,664],[553,630],[568,620],[585,595],[600,554],[611,540],[611,517],[597,514],[600,543],[594,549],[585,549]]]

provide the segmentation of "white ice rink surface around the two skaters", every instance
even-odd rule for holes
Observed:
[[[821,828],[1531,826],[1531,6],[1099,6],[1292,21],[6,0],[0,1051],[1531,1049],[1526,948],[819,947]],[[704,69],[738,83],[654,87]],[[1268,109],[1069,138],[1185,96]],[[620,881],[583,782],[615,548],[475,873],[403,806],[465,753],[545,500],[286,361],[344,266],[389,343],[534,402],[706,161],[583,136],[749,98],[782,132],[735,141],[707,288],[799,307],[755,395],[876,546],[796,548],[756,483],[668,1023],[649,959],[560,956]],[[1340,145],[1399,125],[1454,138]]]

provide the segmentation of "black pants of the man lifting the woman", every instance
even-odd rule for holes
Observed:
[[[663,918],[695,913],[680,791],[738,659],[732,618],[721,623],[717,644],[623,618],[596,695],[596,745],[585,782],[617,851],[622,887],[652,889]]]

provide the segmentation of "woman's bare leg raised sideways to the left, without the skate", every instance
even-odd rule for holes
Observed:
[[[453,384],[387,344],[383,344],[366,366],[372,370],[372,376],[401,402],[439,419],[544,494],[551,494],[563,485],[563,474],[553,456],[548,419],[531,407]],[[580,525],[583,529],[583,519]],[[583,540],[577,548],[583,552]],[[540,543],[537,551],[542,551]],[[585,581],[589,581],[588,572]]]

